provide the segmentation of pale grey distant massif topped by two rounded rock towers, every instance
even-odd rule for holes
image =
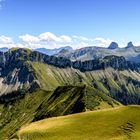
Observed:
[[[80,60],[94,60],[98,58],[104,58],[109,55],[124,56],[129,61],[140,62],[139,59],[140,46],[134,46],[132,42],[129,42],[128,45],[124,48],[119,48],[116,42],[112,42],[108,48],[104,47],[85,47],[77,50],[59,52],[55,56],[66,57],[72,61]]]

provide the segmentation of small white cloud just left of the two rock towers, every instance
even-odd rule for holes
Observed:
[[[94,41],[97,46],[107,47],[113,40],[97,37],[94,39]]]

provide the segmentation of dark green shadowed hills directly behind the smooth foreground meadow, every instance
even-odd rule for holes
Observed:
[[[21,126],[32,121],[119,105],[106,94],[85,85],[62,86],[52,92],[39,89],[1,107],[0,140],[15,137]]]

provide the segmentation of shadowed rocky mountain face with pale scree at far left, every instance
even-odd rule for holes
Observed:
[[[0,94],[30,89],[35,76],[26,62],[27,56],[23,49],[0,53]]]

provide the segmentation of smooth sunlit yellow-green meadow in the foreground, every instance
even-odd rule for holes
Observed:
[[[128,106],[45,119],[23,127],[22,140],[139,140],[140,107]]]

